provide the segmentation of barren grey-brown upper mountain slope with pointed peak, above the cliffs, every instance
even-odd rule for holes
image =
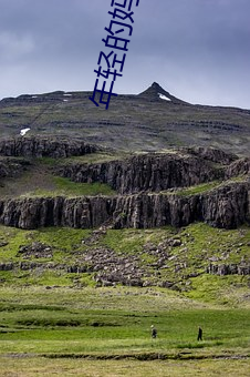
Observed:
[[[95,106],[91,92],[56,91],[0,101],[0,137],[28,135],[84,139],[119,151],[213,146],[239,155],[250,151],[250,110],[195,105],[153,83],[135,94]]]

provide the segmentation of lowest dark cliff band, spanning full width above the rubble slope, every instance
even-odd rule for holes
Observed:
[[[23,198],[0,202],[0,222],[21,228],[70,226],[91,228],[180,227],[195,221],[232,228],[250,218],[250,184],[232,183],[206,194],[135,194],[114,197]]]

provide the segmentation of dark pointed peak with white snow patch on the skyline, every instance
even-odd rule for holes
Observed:
[[[166,102],[169,103],[171,102],[175,104],[188,104],[188,102],[177,99],[175,95],[167,92],[158,84],[158,82],[153,82],[153,84],[149,88],[147,88],[144,92],[139,93],[138,96],[147,99],[149,101],[165,100]]]

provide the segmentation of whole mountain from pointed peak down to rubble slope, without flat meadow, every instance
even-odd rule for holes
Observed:
[[[218,296],[244,303],[250,111],[156,83],[108,111],[90,94],[0,102],[0,282],[199,286],[204,299],[218,278]]]

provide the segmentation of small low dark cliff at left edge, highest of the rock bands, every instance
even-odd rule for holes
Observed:
[[[51,140],[45,137],[15,137],[0,141],[0,155],[24,157],[70,157],[101,150],[96,145],[77,140]]]

